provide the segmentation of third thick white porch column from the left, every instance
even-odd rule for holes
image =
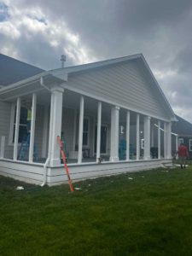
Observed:
[[[149,160],[150,157],[150,117],[144,117],[144,160]]]

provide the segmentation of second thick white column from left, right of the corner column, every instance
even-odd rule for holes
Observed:
[[[111,155],[110,161],[119,161],[119,107],[111,108]]]

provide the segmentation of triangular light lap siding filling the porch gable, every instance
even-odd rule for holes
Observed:
[[[150,84],[137,61],[124,62],[84,73],[73,73],[68,77],[67,89],[81,90],[85,94],[102,98],[136,110],[140,113],[168,119],[160,104],[160,93],[156,85]]]

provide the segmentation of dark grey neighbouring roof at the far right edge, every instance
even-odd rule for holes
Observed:
[[[176,115],[176,118],[177,122],[172,124],[172,132],[179,137],[192,137],[192,124],[180,116]]]

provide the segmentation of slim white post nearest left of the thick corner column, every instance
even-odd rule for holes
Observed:
[[[33,161],[34,151],[34,137],[35,137],[35,119],[36,119],[36,106],[37,106],[37,95],[32,94],[32,121],[31,121],[31,134],[29,144],[29,162]]]

